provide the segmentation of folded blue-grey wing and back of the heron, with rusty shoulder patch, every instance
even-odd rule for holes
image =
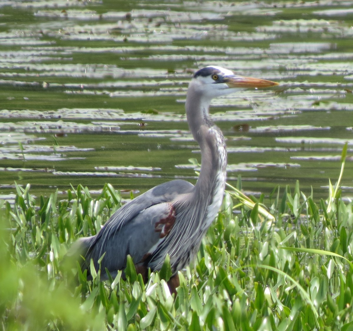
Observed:
[[[91,258],[95,267],[105,253],[101,269],[121,270],[128,254],[134,263],[141,262],[164,240],[175,221],[171,202],[190,192],[193,185],[184,180],[162,183],[139,195],[118,209],[97,235],[79,239],[80,254],[88,267]]]

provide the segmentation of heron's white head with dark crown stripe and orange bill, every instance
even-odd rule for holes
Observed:
[[[195,91],[201,92],[205,97],[211,99],[239,90],[278,85],[271,80],[239,76],[228,69],[217,66],[208,66],[198,70],[194,74],[191,84],[193,84]]]

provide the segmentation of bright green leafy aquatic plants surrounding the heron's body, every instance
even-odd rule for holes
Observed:
[[[343,153],[344,154],[344,153]],[[344,166],[344,157],[342,157]],[[343,171],[343,166],[341,172]],[[341,177],[341,176],[340,176]],[[353,326],[353,215],[339,181],[327,202],[276,187],[264,198],[226,192],[194,268],[169,293],[168,257],[144,284],[128,259],[100,270],[66,263],[79,236],[95,234],[121,206],[112,186],[92,197],[83,186],[34,198],[16,186],[0,203],[0,315],[4,330],[350,330]],[[238,194],[238,195],[237,195]],[[237,207],[237,213],[234,213]]]

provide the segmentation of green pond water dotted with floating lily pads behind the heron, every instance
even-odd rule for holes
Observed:
[[[0,2],[0,197],[72,184],[144,192],[195,183],[184,112],[192,72],[275,80],[213,101],[228,181],[327,197],[348,141],[353,196],[353,1]]]

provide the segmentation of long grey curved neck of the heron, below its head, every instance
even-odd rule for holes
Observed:
[[[201,171],[195,185],[195,193],[197,197],[202,196],[203,201],[207,200],[208,204],[212,203],[219,185],[223,185],[224,190],[227,165],[223,134],[209,118],[210,101],[189,86],[185,103],[186,117],[190,131],[201,149]],[[223,181],[223,184],[220,181]]]

